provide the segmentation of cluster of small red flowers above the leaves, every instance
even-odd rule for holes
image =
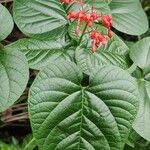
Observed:
[[[75,30],[76,34],[80,33],[80,23],[84,22],[87,23],[88,27],[92,27],[93,22],[101,22],[101,24],[107,29],[107,35],[102,35],[101,33],[98,33],[96,30],[92,30],[90,32],[90,38],[92,41],[92,52],[94,53],[97,49],[97,47],[102,44],[105,45],[109,38],[112,37],[112,32],[110,30],[112,26],[112,17],[109,15],[101,15],[97,14],[94,10],[94,7],[92,7],[91,12],[87,13],[84,10],[84,3],[82,0],[61,0],[61,2],[65,4],[70,4],[72,2],[79,3],[81,6],[81,10],[78,12],[69,11],[67,15],[67,19],[75,19],[77,20],[77,27]]]

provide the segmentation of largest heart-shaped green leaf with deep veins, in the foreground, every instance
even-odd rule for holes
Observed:
[[[29,112],[40,150],[122,150],[136,115],[135,80],[115,66],[94,69],[86,88],[82,79],[61,61],[35,79]]]

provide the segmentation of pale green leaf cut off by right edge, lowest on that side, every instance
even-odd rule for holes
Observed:
[[[150,83],[138,80],[140,106],[134,121],[134,130],[144,139],[150,141]]]

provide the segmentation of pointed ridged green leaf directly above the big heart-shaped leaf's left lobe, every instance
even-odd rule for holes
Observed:
[[[28,59],[29,67],[37,70],[43,69],[57,59],[70,59],[63,40],[21,39],[7,48],[23,52]]]

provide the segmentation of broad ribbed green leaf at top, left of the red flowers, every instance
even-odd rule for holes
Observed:
[[[36,38],[55,38],[66,29],[66,13],[59,1],[14,0],[14,19],[19,29]]]

